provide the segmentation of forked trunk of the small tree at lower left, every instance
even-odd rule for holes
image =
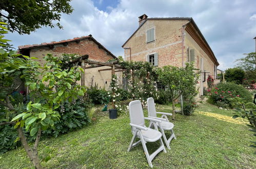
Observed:
[[[37,168],[37,169],[43,168],[40,164],[40,159],[38,157],[38,152],[37,152],[37,145],[38,145],[38,141],[39,141],[40,136],[41,136],[41,129],[38,130],[37,137],[36,137],[36,140],[35,140],[35,146],[32,149],[28,145],[27,139],[26,139],[26,137],[23,133],[23,130],[20,126],[18,126],[17,131],[18,131],[19,139],[21,139],[22,145],[23,145],[25,151],[27,152],[31,162],[34,165],[34,167]]]

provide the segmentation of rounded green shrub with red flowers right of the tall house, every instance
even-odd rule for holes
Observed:
[[[233,82],[219,83],[212,90],[208,90],[209,102],[212,102],[219,107],[232,108],[230,98],[241,97],[247,101],[252,101],[252,95],[242,85],[237,85]]]

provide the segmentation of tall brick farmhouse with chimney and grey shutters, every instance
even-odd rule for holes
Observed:
[[[144,14],[139,17],[139,28],[122,47],[125,60],[149,61],[158,67],[182,67],[194,61],[195,68],[202,71],[201,95],[207,75],[216,78],[219,62],[191,17],[148,18]]]

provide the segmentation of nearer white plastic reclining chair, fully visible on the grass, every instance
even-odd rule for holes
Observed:
[[[153,167],[152,165],[152,160],[153,158],[162,150],[166,153],[164,143],[162,141],[162,134],[157,130],[157,125],[156,123],[160,123],[161,120],[157,120],[154,118],[148,118],[144,117],[143,110],[142,110],[142,105],[140,100],[135,100],[131,101],[129,103],[129,114],[130,114],[130,125],[131,125],[131,131],[132,131],[132,139],[130,142],[130,145],[128,147],[128,152],[134,147],[135,145],[139,144],[140,142],[142,143],[146,158],[148,160],[148,164],[150,167]],[[145,120],[150,120],[150,123],[154,125],[155,130],[151,128],[147,128],[145,126]],[[136,138],[140,138],[139,141],[134,142]],[[146,146],[147,142],[155,142],[157,140],[160,140],[161,146],[151,155],[148,153],[148,149]]]

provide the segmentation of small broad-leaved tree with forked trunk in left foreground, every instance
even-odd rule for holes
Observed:
[[[0,37],[0,42],[6,40]],[[65,101],[77,99],[84,95],[85,89],[77,85],[81,79],[81,68],[61,70],[61,61],[48,54],[46,64],[40,67],[35,57],[13,54],[0,49],[0,104],[5,107],[2,111],[5,118],[0,119],[0,125],[13,124],[18,132],[17,140],[21,140],[25,151],[35,168],[42,168],[38,157],[37,146],[42,131],[54,128],[54,121],[59,120],[60,115],[55,110]],[[24,103],[13,104],[11,94],[22,85],[15,85],[15,79],[20,78],[28,86],[31,98],[26,105]],[[36,135],[35,143],[29,146],[24,134],[24,129],[31,136]]]

